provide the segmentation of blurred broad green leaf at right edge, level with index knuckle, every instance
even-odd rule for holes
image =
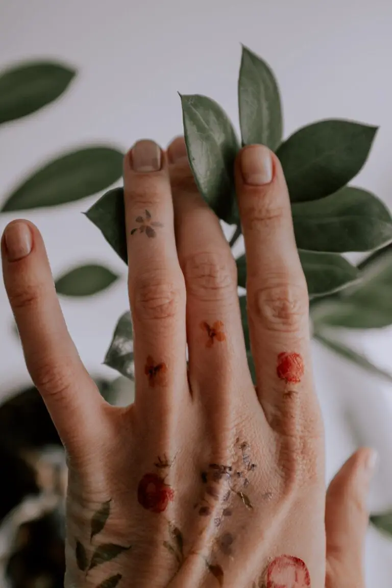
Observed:
[[[392,251],[360,272],[360,280],[311,308],[316,325],[377,329],[392,324]]]

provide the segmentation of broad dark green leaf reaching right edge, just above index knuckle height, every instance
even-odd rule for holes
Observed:
[[[292,206],[297,246],[311,251],[368,251],[392,240],[392,217],[380,199],[346,186]]]

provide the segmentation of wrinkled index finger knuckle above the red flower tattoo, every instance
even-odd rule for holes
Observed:
[[[267,330],[297,332],[309,314],[306,286],[289,280],[264,286],[250,297],[250,312]]]

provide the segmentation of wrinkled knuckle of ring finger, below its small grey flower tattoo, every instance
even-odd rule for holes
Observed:
[[[167,279],[162,271],[146,272],[134,286],[134,313],[140,320],[164,320],[178,316],[184,300],[183,278]]]

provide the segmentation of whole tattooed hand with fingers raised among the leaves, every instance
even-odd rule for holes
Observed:
[[[236,161],[256,388],[236,265],[183,138],[166,151],[137,142],[124,185],[132,406],[109,406],[82,365],[38,229],[13,221],[1,242],[26,365],[68,455],[65,587],[364,588],[374,452],[351,456],[326,491],[279,161],[257,145]]]

